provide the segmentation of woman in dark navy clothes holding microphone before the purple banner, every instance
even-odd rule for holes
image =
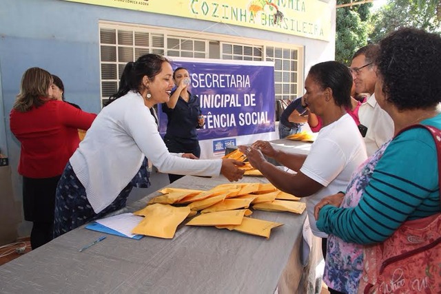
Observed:
[[[201,112],[199,97],[189,92],[192,81],[185,67],[178,67],[173,72],[176,89],[172,92],[170,100],[163,103],[163,112],[167,114],[167,132],[164,142],[170,152],[191,153],[196,157],[201,156],[198,132],[196,129],[203,127],[205,120]],[[170,182],[174,182],[183,175],[168,175]]]

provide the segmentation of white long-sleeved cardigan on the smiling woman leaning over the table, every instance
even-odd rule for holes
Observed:
[[[140,94],[129,92],[96,116],[70,164],[95,213],[109,204],[139,171],[144,156],[165,174],[218,176],[222,160],[170,154]]]

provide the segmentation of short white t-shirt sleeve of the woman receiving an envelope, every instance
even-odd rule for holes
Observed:
[[[347,156],[334,140],[316,141],[300,171],[308,178],[327,187],[345,169]]]

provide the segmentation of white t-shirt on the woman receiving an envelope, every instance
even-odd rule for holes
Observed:
[[[303,174],[324,186],[317,193],[307,197],[307,212],[314,235],[327,238],[327,234],[318,231],[316,227],[316,204],[325,196],[346,191],[353,171],[366,158],[365,142],[349,114],[320,129],[300,168]]]

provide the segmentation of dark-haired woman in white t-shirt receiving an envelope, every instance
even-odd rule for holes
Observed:
[[[351,86],[351,73],[342,63],[327,61],[309,70],[303,97],[311,112],[322,118],[323,126],[307,156],[276,150],[271,143],[260,140],[252,147],[239,147],[251,165],[278,189],[307,197],[312,233],[323,238],[324,246],[327,234],[316,228],[314,206],[329,192],[345,189],[353,171],[367,158],[362,136],[345,111],[345,107],[351,105]],[[296,174],[278,169],[263,155],[274,158]]]

